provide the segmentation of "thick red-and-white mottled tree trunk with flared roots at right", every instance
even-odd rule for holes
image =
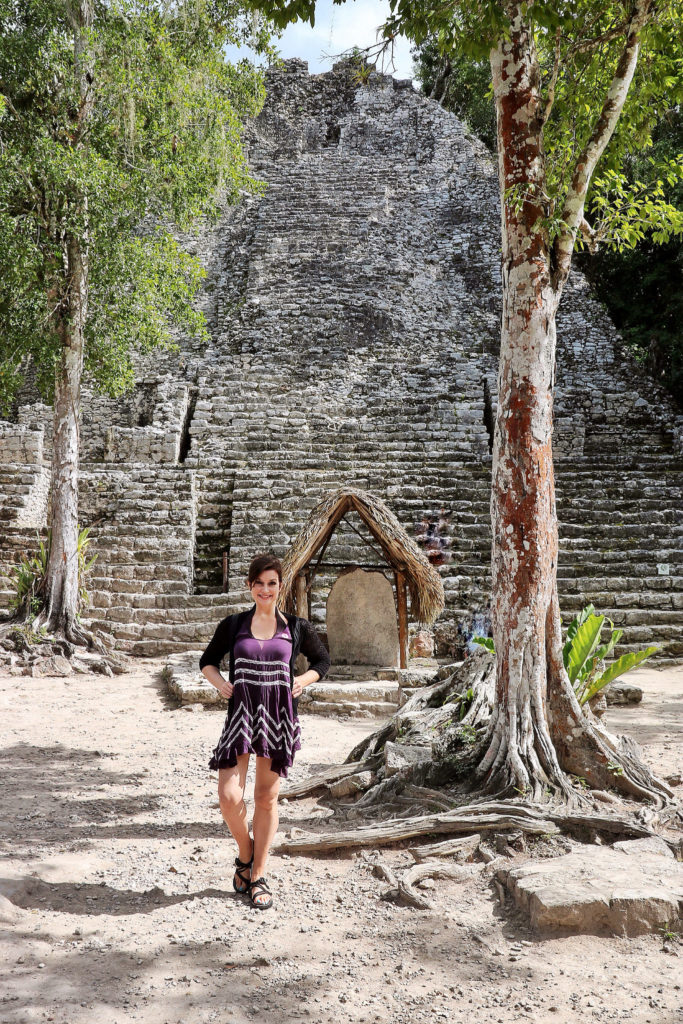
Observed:
[[[503,323],[492,483],[496,703],[477,774],[487,791],[570,798],[563,768],[599,786],[671,791],[579,707],[562,664],[552,457],[555,313],[543,219],[540,74],[521,6],[490,54],[498,120]],[[552,703],[552,734],[548,706]],[[562,767],[558,753],[562,758]]]

